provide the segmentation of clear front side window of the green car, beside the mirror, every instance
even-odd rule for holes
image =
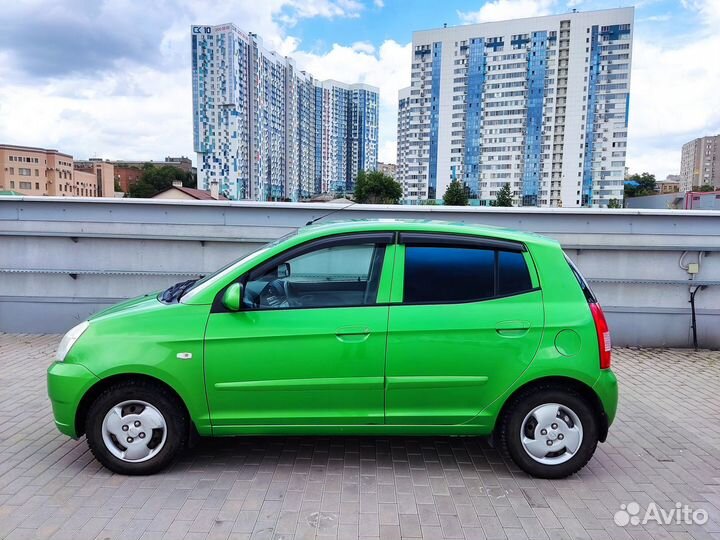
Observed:
[[[374,304],[385,245],[334,243],[280,256],[248,275],[245,309],[292,309]]]

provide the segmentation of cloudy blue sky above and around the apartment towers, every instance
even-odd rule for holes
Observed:
[[[395,161],[412,31],[624,7],[602,0],[22,0],[0,18],[0,142],[76,158],[192,152],[190,26],[233,22],[318,78],[380,88],[380,158]],[[720,133],[720,0],[639,0],[630,170],[664,178]]]

